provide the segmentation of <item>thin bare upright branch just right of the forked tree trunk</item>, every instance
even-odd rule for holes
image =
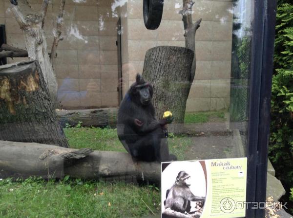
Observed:
[[[52,44],[51,58],[50,58],[53,68],[54,68],[54,62],[55,62],[55,58],[56,58],[58,43],[60,40],[63,40],[63,38],[61,37],[61,33],[62,33],[64,6],[65,6],[65,0],[60,0],[59,14],[58,14],[57,25],[56,25],[56,32],[54,33],[54,41]]]

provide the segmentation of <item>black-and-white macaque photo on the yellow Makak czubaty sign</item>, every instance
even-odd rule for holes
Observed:
[[[206,194],[204,161],[162,163],[162,218],[200,218]]]

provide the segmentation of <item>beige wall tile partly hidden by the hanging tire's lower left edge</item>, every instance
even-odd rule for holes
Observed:
[[[158,30],[147,30],[143,19],[128,19],[128,39],[156,40]]]

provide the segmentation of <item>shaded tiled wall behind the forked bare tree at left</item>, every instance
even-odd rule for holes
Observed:
[[[33,9],[41,8],[42,0],[29,2]],[[44,29],[48,52],[59,3],[52,0],[47,9]],[[0,0],[0,23],[6,25],[7,43],[24,49],[24,37],[10,5]],[[116,9],[111,11],[111,0],[66,0],[63,18],[64,40],[59,43],[55,66],[61,104],[65,108],[118,106],[118,15]],[[8,59],[14,62],[25,58]]]

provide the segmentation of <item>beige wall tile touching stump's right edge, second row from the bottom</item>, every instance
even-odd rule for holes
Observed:
[[[210,80],[194,80],[188,98],[209,98]]]

